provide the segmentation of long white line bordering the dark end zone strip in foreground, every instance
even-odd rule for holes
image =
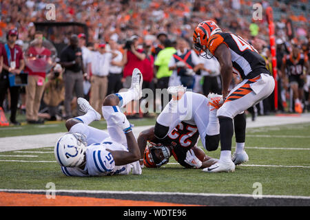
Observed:
[[[50,192],[50,190],[15,190],[0,189],[0,192]],[[149,191],[110,191],[110,190],[54,190],[54,192],[71,192],[71,193],[91,193],[91,194],[135,194],[135,195],[189,195],[203,197],[252,197],[251,194],[225,194],[225,193],[195,193],[195,192],[149,192]],[[310,199],[306,196],[297,195],[261,195],[262,198],[278,198],[278,199]]]

